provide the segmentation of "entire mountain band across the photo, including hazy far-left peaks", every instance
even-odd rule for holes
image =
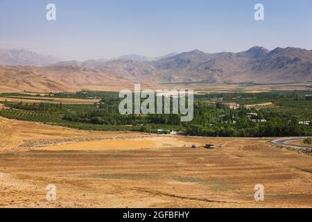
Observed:
[[[77,85],[105,85],[108,82],[131,83],[295,83],[312,80],[312,51],[287,47],[272,51],[261,46],[239,53],[205,53],[194,50],[173,53],[161,58],[128,55],[112,60],[63,61],[51,56],[23,50],[0,50],[3,65],[31,65],[35,67],[2,67],[15,71],[19,79],[24,72],[40,74],[42,82],[53,79],[63,88]],[[45,66],[45,67],[41,67]],[[8,71],[10,69],[10,71]],[[19,74],[19,75],[17,75]],[[68,76],[71,76],[69,80]],[[75,80],[76,76],[76,80]],[[89,80],[85,78],[89,76]],[[12,76],[11,76],[12,77]],[[78,81],[79,79],[79,81]],[[35,78],[34,78],[35,80]],[[78,83],[76,83],[78,81]],[[29,82],[29,80],[28,80]],[[75,85],[76,84],[76,85]],[[53,85],[51,81],[49,85]],[[49,86],[46,86],[49,89]],[[56,87],[58,88],[58,87]],[[55,88],[55,90],[56,90]]]

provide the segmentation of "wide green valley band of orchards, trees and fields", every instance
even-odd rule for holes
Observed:
[[[116,92],[0,96],[6,98],[2,101],[5,108],[0,109],[2,117],[85,130],[157,133],[160,129],[211,137],[312,135],[309,91],[196,94],[193,121],[185,123],[180,114],[119,114],[121,99]]]

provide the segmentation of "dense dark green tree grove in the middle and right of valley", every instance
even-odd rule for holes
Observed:
[[[257,115],[248,117],[249,112]],[[208,103],[194,104],[194,118],[181,122],[180,114],[119,114],[118,103],[101,103],[95,110],[68,112],[64,120],[103,125],[144,126],[143,131],[151,132],[157,125],[184,128],[189,135],[211,137],[279,137],[312,135],[312,127],[299,124],[292,114],[272,110],[232,110]],[[263,121],[265,120],[265,121]]]

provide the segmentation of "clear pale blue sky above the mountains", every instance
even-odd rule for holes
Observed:
[[[46,5],[56,21],[46,20]],[[254,19],[254,5],[264,20]],[[311,0],[0,0],[0,48],[65,60],[252,46],[312,49]]]

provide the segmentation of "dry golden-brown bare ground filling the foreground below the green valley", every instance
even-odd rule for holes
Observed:
[[[267,139],[90,132],[1,117],[0,133],[0,207],[312,207],[312,156]],[[46,200],[51,184],[55,201]],[[258,184],[263,201],[254,200]]]

